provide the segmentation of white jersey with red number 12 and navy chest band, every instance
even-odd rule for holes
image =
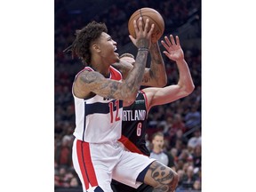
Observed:
[[[90,67],[85,67],[82,71],[84,70],[93,71]],[[122,75],[116,68],[110,66],[109,70],[109,79],[122,80]],[[122,100],[106,99],[100,95],[85,100],[77,98],[74,92],[73,97],[76,111],[74,136],[77,140],[103,143],[118,140],[121,137]]]

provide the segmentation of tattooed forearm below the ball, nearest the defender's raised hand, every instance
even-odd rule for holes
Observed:
[[[156,42],[156,44],[151,44],[150,55],[151,64],[149,75],[155,83],[154,86],[163,87],[167,84],[167,76],[158,42]]]

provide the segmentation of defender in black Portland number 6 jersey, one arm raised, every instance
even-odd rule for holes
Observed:
[[[180,47],[179,36],[176,36],[176,43],[172,35],[170,36],[170,40],[167,36],[165,36],[164,39],[165,42],[162,41],[162,44],[167,51],[164,51],[164,54],[170,60],[176,61],[179,69],[180,79],[178,84],[172,84],[164,88],[145,88],[138,92],[136,100],[132,104],[124,102],[122,137],[120,141],[124,144],[125,148],[145,156],[150,155],[145,140],[147,116],[150,108],[179,100],[180,98],[188,96],[188,94],[194,90],[188,64],[186,60],[184,60],[184,53]],[[124,57],[120,60],[134,63],[134,59],[130,54],[124,54]],[[136,189],[116,182],[116,180],[112,181],[111,186],[115,192],[153,191],[151,186],[145,184],[140,185],[140,187]]]

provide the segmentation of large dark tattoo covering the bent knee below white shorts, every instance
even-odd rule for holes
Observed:
[[[153,190],[154,192],[168,192],[176,188],[177,180],[174,178],[172,169],[163,164],[153,162],[149,170],[151,171],[151,177],[158,183],[157,187]]]

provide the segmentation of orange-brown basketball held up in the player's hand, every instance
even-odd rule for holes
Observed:
[[[149,19],[148,30],[151,28],[151,25],[153,23],[155,24],[155,28],[151,38],[152,38],[152,43],[156,43],[159,40],[159,38],[164,34],[164,19],[162,15],[159,12],[157,12],[155,9],[148,8],[148,7],[144,7],[137,10],[136,12],[133,12],[128,22],[128,30],[130,35],[133,36],[134,38],[136,36],[135,36],[135,30],[133,27],[133,20],[136,20],[138,25],[139,24],[138,20],[140,16],[142,17],[142,20],[143,20],[143,28],[147,18]]]

